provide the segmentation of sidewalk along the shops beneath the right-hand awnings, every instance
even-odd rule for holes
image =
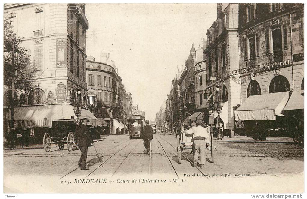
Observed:
[[[246,136],[235,136],[233,138],[223,137],[222,140],[217,140],[216,137],[213,139],[214,141],[218,142],[294,144],[294,141],[291,137],[266,137],[266,141],[256,141],[253,138]]]

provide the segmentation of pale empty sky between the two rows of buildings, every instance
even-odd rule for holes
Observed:
[[[133,104],[155,119],[171,82],[216,20],[212,4],[88,3],[87,56],[110,53]]]

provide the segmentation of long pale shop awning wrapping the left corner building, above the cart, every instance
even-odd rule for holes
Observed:
[[[14,107],[14,122],[16,127],[51,127],[52,121],[59,119],[76,119],[71,104],[44,104],[26,105]],[[83,108],[80,118],[86,117],[91,125],[99,125],[99,120],[89,111]],[[44,118],[46,118],[44,120]]]

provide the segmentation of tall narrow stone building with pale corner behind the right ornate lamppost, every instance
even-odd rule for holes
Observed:
[[[238,77],[228,75],[229,71],[239,69],[239,4],[217,4],[217,19],[207,31],[207,96],[210,113],[214,111],[217,100],[215,84],[220,82],[220,97],[223,103],[224,129],[233,130],[233,106],[241,102],[240,83]],[[213,80],[212,80],[213,77]],[[215,78],[215,80],[214,80]],[[225,110],[226,109],[226,110]]]

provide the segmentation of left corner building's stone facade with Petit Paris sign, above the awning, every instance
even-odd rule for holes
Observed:
[[[8,3],[4,14],[21,46],[30,54],[35,88],[16,91],[18,105],[69,103],[77,86],[86,95],[86,30],[84,4]],[[10,87],[5,86],[4,97]]]

